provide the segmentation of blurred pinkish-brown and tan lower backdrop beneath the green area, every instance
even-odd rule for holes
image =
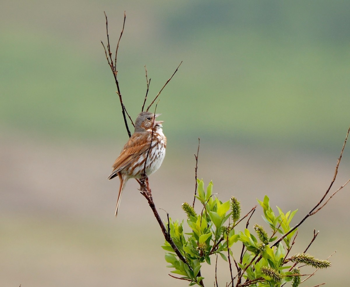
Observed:
[[[1,286],[187,286],[167,275],[161,231],[135,181],[128,182],[114,218],[119,181],[106,177],[120,146],[50,142],[14,132],[1,136]],[[182,149],[169,142],[161,169],[150,178],[163,218],[160,208],[183,219],[181,203],[193,200],[195,151],[195,145]],[[221,200],[239,198],[243,213],[265,194],[285,212],[299,208],[296,223],[327,189],[336,160],[283,149],[214,149],[202,142],[198,176],[206,184],[213,180]],[[336,188],[347,180],[349,162],[344,156]],[[311,254],[325,259],[338,251],[332,267],[318,271],[306,286],[346,282],[348,202],[349,187],[300,228],[294,253],[308,245],[314,228],[320,234]],[[251,226],[255,222],[264,224],[259,208]],[[214,265],[203,268],[206,286],[212,286],[213,272]],[[224,285],[229,278],[224,263],[218,278]]]

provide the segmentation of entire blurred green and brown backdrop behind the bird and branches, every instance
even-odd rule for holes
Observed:
[[[153,99],[183,61],[157,108],[168,138],[166,159],[150,179],[158,208],[184,218],[198,137],[199,177],[213,180],[223,201],[239,198],[243,211],[268,194],[286,211],[299,208],[297,223],[327,189],[350,124],[350,2],[1,7],[1,286],[187,286],[167,275],[160,229],[135,182],[113,216],[119,182],[106,177],[127,134],[100,43],[103,11],[112,50],[126,11],[117,68],[133,118],[146,92],[144,66]],[[346,149],[336,187],[349,178],[349,155]],[[295,252],[313,228],[320,230],[313,255],[338,251],[307,286],[348,280],[348,201],[346,188],[300,229]],[[202,273],[210,286],[213,270]]]

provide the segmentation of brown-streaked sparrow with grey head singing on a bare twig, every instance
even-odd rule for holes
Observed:
[[[163,162],[167,138],[162,131],[163,121],[155,120],[159,115],[160,114],[141,112],[137,116],[135,132],[125,144],[112,166],[113,171],[108,179],[112,179],[116,176],[119,176],[120,179],[116,216],[121,193],[123,192],[126,182],[130,178],[141,178],[141,174],[144,172],[146,158],[146,176],[157,171]]]

